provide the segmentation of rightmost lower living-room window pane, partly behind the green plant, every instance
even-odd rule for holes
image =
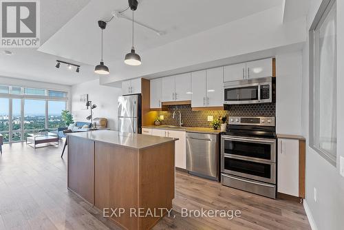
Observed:
[[[48,101],[48,128],[56,129],[64,127],[65,122],[62,121],[61,112],[66,109],[65,101]]]

